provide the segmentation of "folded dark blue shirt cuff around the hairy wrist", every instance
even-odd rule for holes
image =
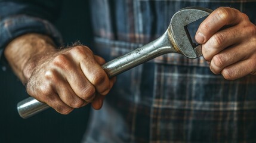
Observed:
[[[0,21],[0,66],[2,70],[8,69],[3,51],[5,46],[14,38],[26,33],[41,33],[50,36],[55,45],[60,46],[62,38],[58,30],[49,21],[31,17],[29,15],[16,15]]]

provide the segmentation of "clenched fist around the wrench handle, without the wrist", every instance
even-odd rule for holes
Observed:
[[[115,82],[115,78],[109,79],[101,68],[104,63],[103,58],[94,55],[87,46],[50,52],[35,66],[27,82],[27,93],[61,114],[68,114],[89,102],[99,109],[103,95]]]

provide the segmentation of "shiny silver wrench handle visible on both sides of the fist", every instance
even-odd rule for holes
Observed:
[[[171,41],[169,41],[168,29],[164,35],[155,41],[147,43],[141,48],[137,48],[128,54],[109,61],[108,63],[104,64],[102,68],[104,71],[106,71],[107,76],[111,78],[126,70],[132,69],[132,67],[138,66],[139,64],[169,52],[177,51],[174,49]],[[39,102],[33,97],[26,98],[17,104],[18,114],[20,114],[23,119],[31,117],[41,111],[46,110],[47,108],[49,108],[47,104]]]

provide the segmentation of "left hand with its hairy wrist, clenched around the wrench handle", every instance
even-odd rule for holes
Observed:
[[[101,65],[104,59],[87,46],[57,50],[50,38],[29,34],[14,39],[5,57],[27,86],[27,93],[61,114],[92,102],[101,108],[104,95],[113,86]]]

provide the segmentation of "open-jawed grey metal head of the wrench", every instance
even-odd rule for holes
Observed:
[[[169,24],[169,37],[174,47],[187,58],[202,55],[201,45],[194,45],[187,30],[187,25],[209,15],[212,10],[201,7],[183,8],[173,15]]]

